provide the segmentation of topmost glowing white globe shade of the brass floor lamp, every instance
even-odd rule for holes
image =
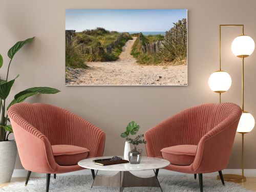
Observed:
[[[236,37],[231,44],[231,51],[237,57],[248,57],[253,53],[254,48],[253,39],[247,35]]]

